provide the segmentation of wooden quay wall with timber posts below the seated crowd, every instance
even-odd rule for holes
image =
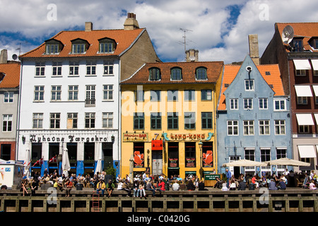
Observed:
[[[0,190],[3,212],[317,212],[317,191],[288,188],[285,191],[146,191],[147,197],[127,197],[113,191],[112,197],[96,196],[94,189],[72,189],[71,196],[55,189],[37,190],[23,196],[19,190]],[[131,196],[133,191],[131,191]]]

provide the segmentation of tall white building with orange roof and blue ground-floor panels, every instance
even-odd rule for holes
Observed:
[[[146,61],[158,60],[146,29],[129,13],[124,29],[61,31],[20,56],[17,160],[31,150],[33,171],[57,169],[49,162],[67,148],[70,173],[93,176],[120,169],[119,81]],[[33,165],[32,162],[32,165]],[[117,174],[119,171],[117,170]]]

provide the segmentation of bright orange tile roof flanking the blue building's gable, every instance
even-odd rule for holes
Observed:
[[[259,73],[261,73],[261,76],[263,76],[266,83],[269,85],[273,85],[272,89],[275,92],[275,96],[285,95],[278,64],[257,65],[257,69],[259,69]],[[232,83],[234,78],[237,76],[239,70],[240,65],[227,64],[224,66],[223,81],[221,83],[221,93],[219,97],[218,110],[226,109],[225,95],[223,94],[224,91],[227,89],[227,87],[225,87],[225,84]],[[267,76],[266,71],[270,71],[271,75]]]

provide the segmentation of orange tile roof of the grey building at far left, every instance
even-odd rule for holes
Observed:
[[[20,84],[20,62],[0,64],[0,73],[4,79],[0,81],[0,88],[17,88]]]

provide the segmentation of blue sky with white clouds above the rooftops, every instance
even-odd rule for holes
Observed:
[[[0,49],[28,52],[61,30],[122,29],[128,12],[146,28],[163,61],[184,61],[182,42],[199,50],[199,61],[242,61],[247,37],[259,35],[259,55],[279,22],[317,22],[318,0],[0,0]],[[76,7],[74,7],[76,6]],[[297,15],[297,16],[295,16]]]

